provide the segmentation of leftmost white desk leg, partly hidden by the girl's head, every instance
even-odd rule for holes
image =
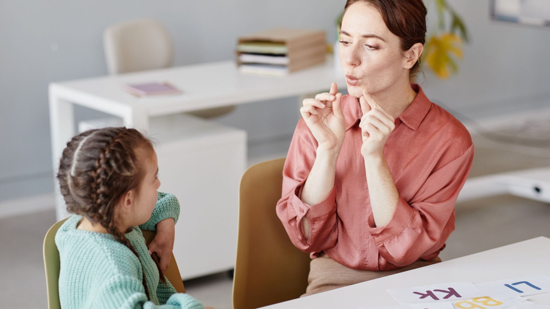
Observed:
[[[56,91],[50,89],[50,135],[52,139],[52,167],[54,178],[54,190],[56,201],[57,220],[69,216],[65,207],[65,201],[59,191],[57,171],[59,159],[67,142],[74,135],[74,113],[72,103],[62,100]]]

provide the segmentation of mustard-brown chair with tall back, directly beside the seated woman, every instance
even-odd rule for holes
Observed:
[[[257,308],[300,297],[310,258],[298,250],[277,217],[284,158],[250,167],[239,192],[239,236],[233,307]]]

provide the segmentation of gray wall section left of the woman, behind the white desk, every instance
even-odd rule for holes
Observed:
[[[1,0],[0,200],[53,190],[47,85],[107,74],[102,35],[108,25],[144,17],[162,21],[174,40],[174,64],[185,65],[233,59],[239,35],[270,27],[323,29],[332,41],[342,1],[319,3]],[[295,107],[296,98],[250,104],[219,121],[248,129],[257,141],[292,134]],[[75,113],[77,119],[98,114],[84,108]]]

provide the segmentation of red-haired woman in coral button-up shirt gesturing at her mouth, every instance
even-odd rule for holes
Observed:
[[[426,34],[421,0],[348,0],[339,56],[349,95],[304,100],[277,214],[311,253],[305,295],[441,262],[474,145],[410,82]]]

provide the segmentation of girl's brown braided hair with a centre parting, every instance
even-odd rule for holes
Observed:
[[[73,137],[63,150],[57,179],[67,211],[100,224],[114,239],[139,259],[138,252],[117,228],[116,205],[129,190],[139,190],[145,169],[136,150],[153,151],[151,141],[135,129],[103,128],[85,131]],[[138,192],[139,193],[139,192]],[[161,282],[166,278],[157,264]],[[145,293],[150,297],[142,266]]]

